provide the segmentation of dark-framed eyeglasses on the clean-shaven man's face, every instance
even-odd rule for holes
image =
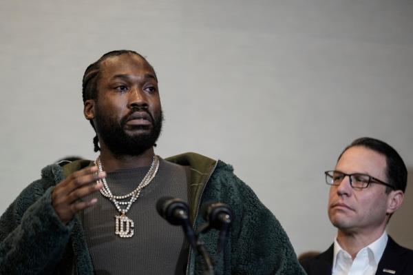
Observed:
[[[326,183],[328,185],[340,185],[341,181],[348,176],[350,179],[350,185],[353,189],[363,189],[367,188],[370,183],[379,183],[385,186],[388,186],[395,190],[393,185],[390,185],[388,183],[385,183],[384,181],[380,181],[379,179],[376,179],[372,176],[369,176],[368,174],[361,174],[361,173],[354,173],[354,174],[346,174],[337,170],[332,170],[332,171],[326,171],[324,172],[326,174]]]

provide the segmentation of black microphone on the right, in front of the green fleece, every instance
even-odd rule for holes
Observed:
[[[220,230],[218,238],[218,252],[224,249],[226,237],[232,222],[231,208],[225,203],[206,203],[202,206],[202,216],[209,223],[209,226]]]

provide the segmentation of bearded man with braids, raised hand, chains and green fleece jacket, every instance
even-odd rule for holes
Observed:
[[[0,219],[0,274],[202,274],[204,263],[156,213],[162,196],[235,213],[223,252],[202,235],[216,274],[304,274],[276,218],[230,165],[195,153],[153,150],[162,128],[158,78],[140,54],[108,52],[83,77],[95,161],[45,167]]]

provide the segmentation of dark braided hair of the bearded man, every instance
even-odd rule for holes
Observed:
[[[145,60],[149,64],[149,66],[151,66],[153,70],[152,65],[147,61],[147,59],[145,59],[145,57],[142,57],[142,55],[138,54],[138,52],[135,52],[133,50],[112,50],[111,52],[107,52],[103,54],[103,56],[100,57],[100,59],[98,59],[96,62],[88,65],[85,70],[85,74],[83,74],[83,81],[82,81],[83,103],[85,103],[85,101],[87,101],[88,99],[98,99],[98,79],[100,75],[100,63],[102,63],[102,61],[104,61],[105,59],[109,57],[117,57],[118,55],[121,55],[121,54],[137,55],[138,57]],[[155,78],[157,79],[155,70],[153,70],[153,74],[155,74]],[[90,125],[92,125],[92,128],[96,132],[96,128],[94,127],[93,121],[89,121],[89,122],[90,122]],[[98,139],[98,135],[96,134],[96,136],[93,139],[94,152],[98,152],[98,150],[100,150],[98,142],[99,142],[99,139]]]

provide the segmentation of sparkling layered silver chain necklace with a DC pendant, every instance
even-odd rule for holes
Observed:
[[[102,161],[100,161],[100,156],[98,156],[98,158],[96,159],[95,164],[98,166],[99,172],[103,172],[103,165]],[[134,203],[139,197],[142,189],[149,185],[152,179],[156,176],[158,168],[159,156],[154,154],[151,167],[149,167],[147,174],[142,179],[142,181],[140,181],[138,187],[136,187],[134,191],[123,196],[115,196],[114,194],[112,194],[109,189],[109,185],[107,185],[106,178],[98,179],[98,181],[96,181],[96,183],[101,182],[103,184],[103,187],[100,189],[100,194],[108,198],[109,201],[112,201],[112,203],[114,203],[116,207],[116,210],[118,210],[118,212],[120,213],[119,216],[115,216],[115,234],[120,236],[120,238],[131,238],[131,236],[134,236],[134,221],[132,221],[131,218],[127,217],[126,213],[131,208],[132,203]],[[120,201],[127,198],[130,198],[129,201]],[[120,205],[126,205],[126,207],[122,209]]]

